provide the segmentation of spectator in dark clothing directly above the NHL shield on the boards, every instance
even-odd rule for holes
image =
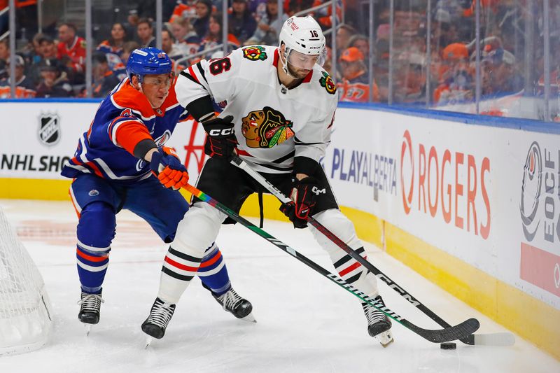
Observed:
[[[37,85],[36,97],[71,97],[72,86],[57,59],[43,59],[38,68],[41,81]]]

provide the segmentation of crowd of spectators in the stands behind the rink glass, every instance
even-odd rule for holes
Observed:
[[[388,0],[375,1],[371,82],[367,3],[345,0],[338,4],[338,19],[343,19],[343,6],[345,16],[344,23],[336,31],[337,69],[333,78],[337,81],[342,101],[372,99],[401,104],[429,102],[437,106],[475,98],[475,1],[432,0],[429,14],[426,13],[427,1],[395,1],[391,46],[390,3]],[[277,30],[287,17],[322,2],[284,0],[279,19],[277,0],[230,0],[227,42],[232,48],[259,43],[276,45]],[[220,50],[216,47],[223,43],[222,1],[182,0],[176,3],[164,1],[163,4],[162,49],[177,61],[176,70],[200,58],[219,55]],[[550,81],[552,95],[557,96],[560,3],[551,2],[550,6]],[[331,24],[331,9],[328,6],[313,13],[325,30]],[[478,59],[481,62],[482,96],[519,92],[542,95],[542,9],[536,6],[530,9],[525,1],[481,0],[481,10]],[[533,12],[532,23],[528,23],[528,12]],[[158,30],[155,30],[154,15],[153,2],[139,1],[126,20],[112,24],[106,40],[98,41],[92,64],[94,97],[104,97],[111,86],[125,76],[127,57],[134,48],[155,46]],[[427,42],[428,24],[430,41]],[[531,43],[526,42],[528,29],[534,35]],[[56,34],[36,34],[29,45],[18,50],[15,69],[18,97],[85,96],[85,41],[81,37],[83,33],[78,34],[73,24],[58,24]],[[209,52],[204,53],[207,50]],[[331,52],[329,48],[329,58],[324,66],[328,71],[332,71]],[[390,52],[392,66],[389,66]],[[0,41],[0,97],[10,96],[9,55],[5,38]],[[531,57],[527,58],[527,55]]]

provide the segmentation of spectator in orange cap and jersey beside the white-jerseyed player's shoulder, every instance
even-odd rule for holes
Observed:
[[[370,78],[364,63],[365,57],[356,47],[350,47],[340,56],[342,82],[337,84],[340,101],[370,101]],[[379,102],[379,88],[373,82],[373,101]]]

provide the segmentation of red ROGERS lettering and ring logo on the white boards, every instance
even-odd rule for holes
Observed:
[[[430,144],[416,146],[408,129],[402,135],[400,191],[402,208],[407,215],[417,201],[420,213],[429,214],[431,218],[438,218],[440,213],[445,223],[453,220],[461,230],[487,239],[491,218],[486,185],[489,172],[488,157],[477,160],[475,155],[451,152],[447,148],[438,153]]]

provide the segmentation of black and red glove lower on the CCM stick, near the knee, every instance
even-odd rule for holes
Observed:
[[[307,217],[313,212],[319,193],[321,190],[316,178],[307,176],[295,181],[290,194],[292,202],[280,206],[280,211],[288,216],[294,228],[307,227]]]

